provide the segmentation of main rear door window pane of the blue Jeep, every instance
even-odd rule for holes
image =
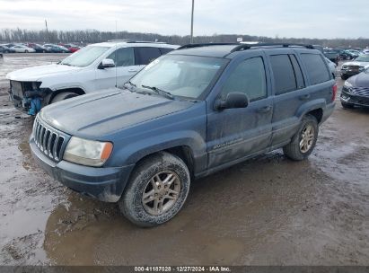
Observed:
[[[288,55],[270,56],[276,94],[291,92],[297,89],[294,68]]]

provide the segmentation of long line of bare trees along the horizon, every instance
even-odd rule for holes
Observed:
[[[208,36],[194,37],[195,43],[210,42],[236,42],[238,38],[243,41],[259,41],[266,43],[299,43],[322,45],[329,48],[366,48],[369,47],[369,39],[308,39],[308,38],[279,38],[250,36],[238,34],[214,34]],[[184,45],[189,43],[189,35],[160,35],[156,33],[141,33],[128,31],[31,31],[24,29],[3,29],[0,30],[1,42],[37,42],[37,43],[58,43],[69,42],[78,44],[90,44],[107,40],[141,40],[141,41],[163,41],[171,44]]]

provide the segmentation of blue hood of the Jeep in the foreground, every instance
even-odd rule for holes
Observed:
[[[189,108],[193,103],[110,89],[48,105],[40,111],[40,118],[69,135],[103,139],[121,129]]]

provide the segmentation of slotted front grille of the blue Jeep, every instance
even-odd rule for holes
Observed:
[[[66,135],[36,118],[33,124],[33,137],[41,152],[56,162],[61,160],[66,148]]]

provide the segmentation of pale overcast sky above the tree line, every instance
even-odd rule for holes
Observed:
[[[0,0],[0,29],[189,34],[191,0]],[[195,0],[194,35],[369,38],[368,0]]]

